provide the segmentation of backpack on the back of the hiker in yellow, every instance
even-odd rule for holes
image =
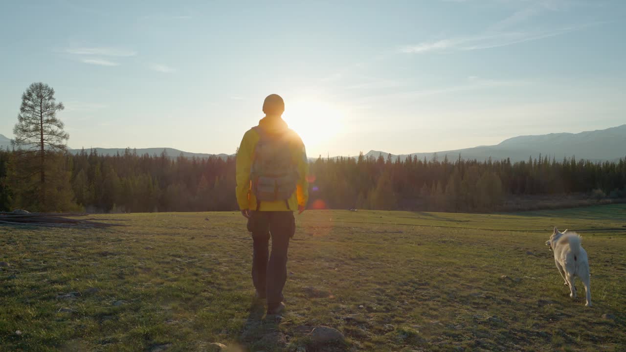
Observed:
[[[299,179],[297,163],[292,154],[290,130],[267,133],[259,126],[259,142],[254,149],[250,180],[252,192],[257,198],[257,210],[261,201],[284,200],[289,210],[289,198],[294,194]]]

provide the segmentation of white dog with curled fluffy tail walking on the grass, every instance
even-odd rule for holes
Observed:
[[[573,232],[566,234],[567,230],[558,232],[555,227],[552,236],[546,241],[546,246],[554,251],[554,261],[557,264],[558,272],[561,273],[565,280],[565,285],[570,286],[570,297],[576,298],[576,287],[574,286],[574,277],[580,277],[585,285],[585,293],[587,294],[587,304],[591,306],[591,291],[589,286],[589,262],[587,261],[587,252],[580,246],[580,236]]]

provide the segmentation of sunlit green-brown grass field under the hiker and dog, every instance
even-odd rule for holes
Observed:
[[[127,226],[0,227],[0,351],[626,350],[626,205],[305,212],[282,320],[253,299],[239,213],[95,217]],[[554,225],[583,235],[593,308],[543,244]]]

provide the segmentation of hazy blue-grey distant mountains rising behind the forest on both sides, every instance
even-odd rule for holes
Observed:
[[[0,135],[0,148],[11,148],[11,140]],[[93,148],[100,155],[123,155],[123,148]],[[90,149],[85,149],[89,152]],[[206,154],[206,153],[190,153],[173,148],[138,148],[135,152],[138,155],[161,155],[165,150],[169,157],[197,157],[208,158],[212,155],[222,159],[227,158],[228,154]],[[71,153],[80,153],[81,149],[70,149]],[[626,157],[626,125],[607,128],[606,130],[595,130],[581,133],[550,133],[547,135],[536,136],[519,136],[509,138],[497,145],[483,145],[474,148],[464,148],[456,150],[444,150],[441,152],[430,153],[412,153],[411,157],[418,157],[430,160],[434,154],[437,154],[439,160],[443,160],[446,156],[449,160],[456,160],[461,155],[463,159],[486,160],[503,160],[510,158],[512,162],[528,160],[529,157],[537,158],[539,154],[555,157],[558,161],[563,157],[575,156],[577,159],[588,159],[594,161],[602,160],[619,160]],[[388,153],[379,150],[371,150],[366,157],[375,157],[379,155],[387,157]],[[405,159],[409,154],[391,155],[394,160],[396,157]],[[313,158],[312,158],[313,159]]]

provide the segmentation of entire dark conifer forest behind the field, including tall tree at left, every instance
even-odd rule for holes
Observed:
[[[13,150],[0,150],[0,210],[163,212],[237,210],[235,158],[71,154],[54,90],[24,92]],[[506,210],[533,196],[626,198],[626,159],[591,162],[539,155],[511,160],[439,160],[391,155],[317,158],[310,165],[314,209]]]

